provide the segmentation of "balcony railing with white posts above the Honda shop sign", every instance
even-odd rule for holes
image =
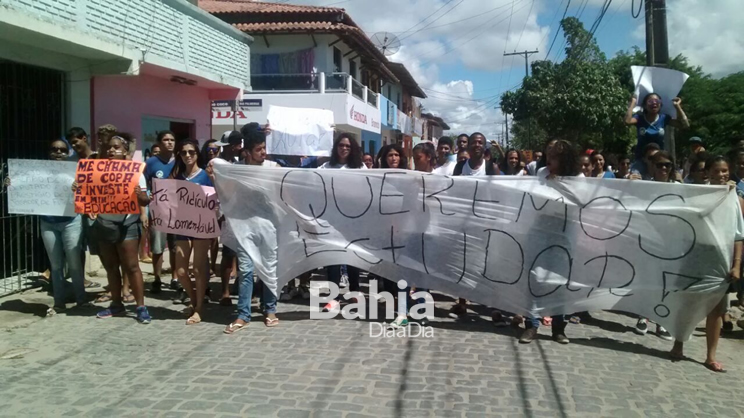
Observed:
[[[377,93],[347,73],[253,74],[246,93],[347,93],[379,108]]]

